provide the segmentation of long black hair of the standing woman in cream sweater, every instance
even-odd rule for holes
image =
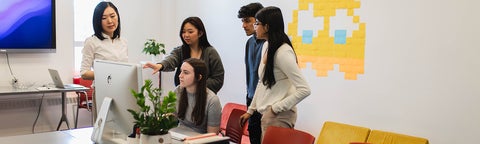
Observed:
[[[290,47],[293,46],[284,31],[283,16],[280,8],[274,6],[265,7],[257,12],[255,18],[267,29],[267,64],[265,65],[262,83],[271,88],[276,83],[275,75],[273,74],[275,53],[284,43],[287,43]]]

